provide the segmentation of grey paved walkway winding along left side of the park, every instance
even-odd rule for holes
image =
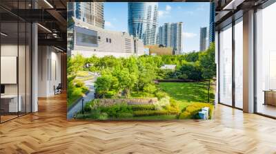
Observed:
[[[94,93],[95,93],[95,80],[97,78],[96,74],[92,74],[92,72],[89,72],[89,75],[93,75],[95,76],[92,80],[86,80],[84,81],[84,84],[86,85],[86,87],[88,87],[89,92],[88,94],[86,94],[86,96],[83,98],[83,107],[86,105],[87,102],[89,102],[90,100],[93,100],[94,97]],[[70,120],[72,118],[74,118],[74,115],[81,111],[81,107],[82,107],[82,100],[79,100],[79,102],[77,102],[77,104],[75,104],[74,107],[72,107],[72,109],[70,109],[70,111],[67,112],[67,119]]]

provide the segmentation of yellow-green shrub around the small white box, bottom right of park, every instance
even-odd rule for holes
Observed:
[[[209,107],[208,119],[211,119],[213,115],[213,104],[203,102],[196,102],[194,104],[188,105],[188,107],[183,109],[183,112],[180,113],[179,119],[199,119],[198,113],[204,107]]]

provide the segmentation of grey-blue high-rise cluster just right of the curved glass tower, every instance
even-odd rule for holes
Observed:
[[[159,27],[159,44],[173,48],[173,54],[181,54],[183,49],[183,23],[164,23]]]

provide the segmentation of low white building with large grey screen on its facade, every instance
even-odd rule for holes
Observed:
[[[73,18],[71,55],[128,57],[144,54],[144,43],[141,39],[127,32],[117,32],[98,28]]]

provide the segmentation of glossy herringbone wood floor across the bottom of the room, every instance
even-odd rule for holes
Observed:
[[[66,121],[66,96],[0,124],[0,153],[276,153],[276,120],[218,105],[207,121]]]

